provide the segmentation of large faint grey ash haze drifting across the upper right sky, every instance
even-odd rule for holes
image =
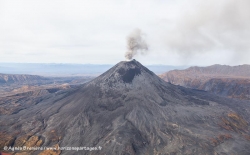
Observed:
[[[188,1],[190,8],[183,9],[179,18],[173,19],[174,26],[161,32],[165,33],[166,50],[179,54],[185,61],[205,53],[214,58],[225,51],[228,56],[232,55],[232,63],[249,63],[250,1],[192,2]]]

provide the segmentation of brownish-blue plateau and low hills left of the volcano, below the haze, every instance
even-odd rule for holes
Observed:
[[[0,97],[40,89],[57,89],[65,85],[72,87],[91,79],[93,79],[92,76],[43,77],[38,75],[0,73]]]

